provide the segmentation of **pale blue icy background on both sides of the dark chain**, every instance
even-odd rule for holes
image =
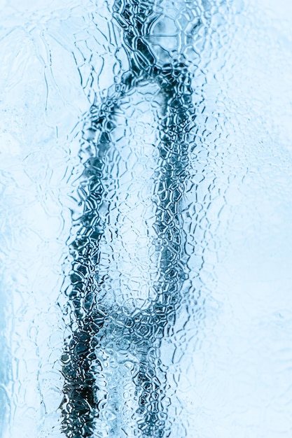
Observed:
[[[79,3],[0,3],[4,438],[62,437],[62,284],[81,131],[123,58],[111,5]],[[214,2],[193,37],[204,98],[200,154],[190,157],[198,186],[186,195],[195,292],[161,347],[171,437],[291,435],[291,24],[286,0]]]

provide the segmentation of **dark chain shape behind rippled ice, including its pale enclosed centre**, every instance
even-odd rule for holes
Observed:
[[[72,334],[62,355],[70,438],[167,437],[174,421],[160,346],[190,292],[182,213],[196,146],[196,66],[168,36],[158,50],[151,36],[172,29],[179,40],[201,21],[188,3],[177,17],[173,8],[167,15],[154,1],[113,5],[129,69],[92,105],[83,135],[83,212],[66,291]]]

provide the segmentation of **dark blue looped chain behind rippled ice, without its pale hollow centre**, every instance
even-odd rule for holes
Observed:
[[[182,198],[188,166],[188,135],[193,118],[190,74],[184,62],[158,62],[144,36],[155,19],[153,1],[116,2],[113,16],[123,29],[130,71],[123,74],[115,92],[102,104],[92,106],[90,148],[85,162],[80,197],[83,215],[71,245],[74,257],[71,286],[67,292],[75,327],[62,355],[64,400],[62,430],[68,438],[92,437],[95,420],[102,413],[108,394],[99,387],[104,364],[99,348],[111,344],[117,333],[127,340],[139,365],[132,374],[137,409],[133,412],[140,437],[167,437],[167,376],[160,361],[161,339],[174,324],[186,280],[186,241],[181,219]],[[106,278],[99,274],[99,243],[106,227],[100,213],[104,196],[104,157],[113,145],[115,113],[123,97],[141,81],[159,85],[164,105],[160,113],[158,150],[160,176],[155,188],[155,234],[158,260],[156,298],[144,311],[128,315],[115,304],[100,299]],[[116,343],[117,345],[117,343]],[[117,425],[118,428],[118,425]],[[113,432],[118,433],[118,432]],[[118,436],[118,435],[115,435]]]

